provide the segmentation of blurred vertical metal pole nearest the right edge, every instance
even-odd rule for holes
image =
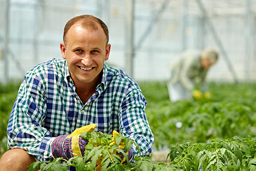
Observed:
[[[245,81],[248,81],[249,64],[250,64],[250,0],[247,0],[246,5],[246,23],[245,23]]]

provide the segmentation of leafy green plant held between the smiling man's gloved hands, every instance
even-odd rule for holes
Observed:
[[[94,170],[97,167],[102,170],[122,170],[131,165],[129,162],[126,165],[121,164],[121,158],[117,154],[122,154],[128,161],[129,159],[124,151],[129,151],[134,143],[133,140],[121,135],[113,138],[112,135],[94,131],[82,133],[80,136],[89,140],[84,151],[86,157],[76,156],[69,160],[57,158],[52,162],[37,161],[31,164],[29,170],[34,170],[36,167],[40,167],[40,170],[67,170],[68,166],[76,167],[77,170]],[[114,141],[116,144],[112,143]],[[124,144],[124,149],[119,146],[121,144]]]

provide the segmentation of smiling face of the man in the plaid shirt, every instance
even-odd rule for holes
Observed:
[[[60,49],[75,85],[99,82],[99,74],[104,61],[109,59],[111,47],[110,44],[106,46],[103,29],[98,27],[98,30],[90,31],[75,24],[66,36],[66,44],[61,43]]]

